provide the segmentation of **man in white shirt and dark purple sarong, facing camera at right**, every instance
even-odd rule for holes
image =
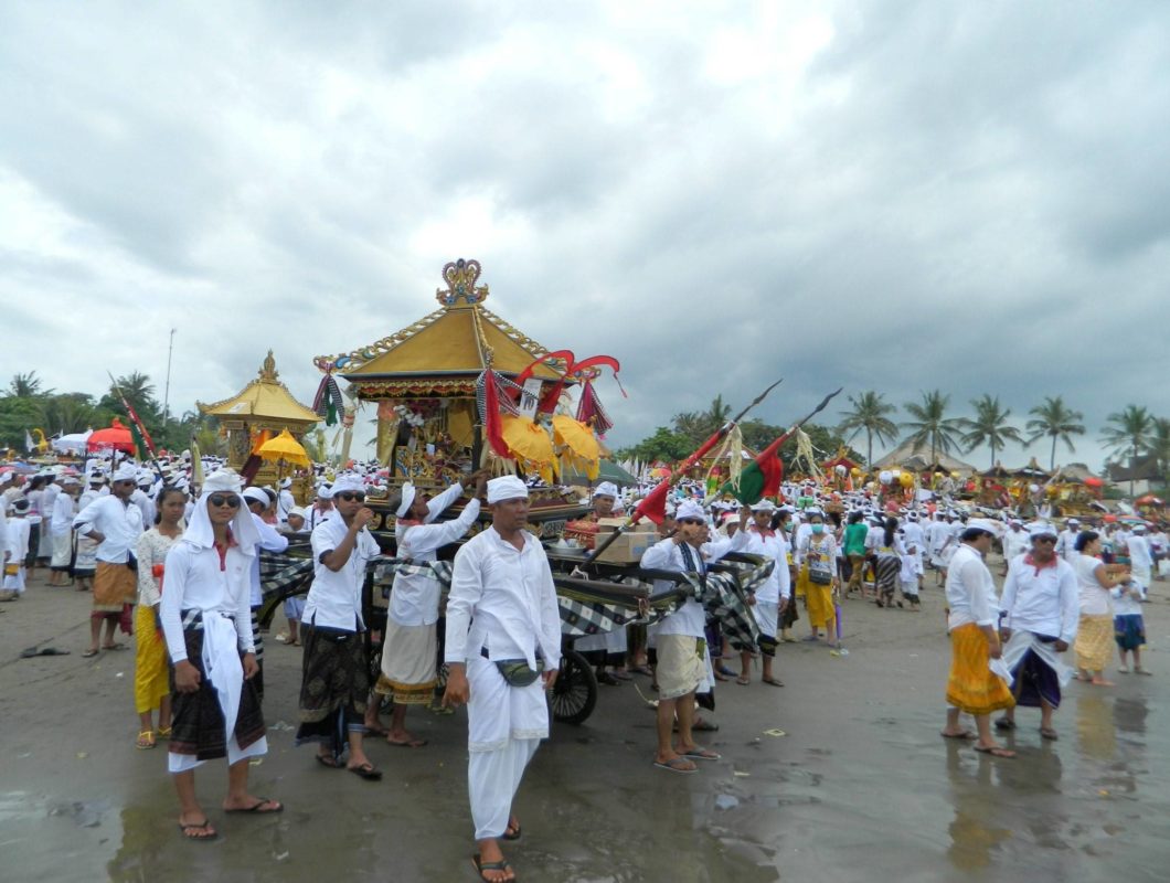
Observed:
[[[1057,529],[1033,524],[1031,551],[1012,559],[999,599],[1004,663],[1012,672],[1016,704],[1040,709],[1040,736],[1054,740],[1052,715],[1060,708],[1060,689],[1073,670],[1058,654],[1076,639],[1080,595],[1076,571],[1055,553]],[[1014,709],[996,722],[997,730],[1014,730]]]

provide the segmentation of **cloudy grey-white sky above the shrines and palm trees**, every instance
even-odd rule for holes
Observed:
[[[172,412],[308,401],[463,256],[617,444],[783,375],[1061,394],[1099,465],[1170,416],[1168,70],[1157,0],[6,4],[0,375],[161,396],[174,327]]]

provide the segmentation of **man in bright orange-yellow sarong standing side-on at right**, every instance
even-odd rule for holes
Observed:
[[[1014,701],[1007,684],[990,668],[1002,655],[996,632],[994,581],[983,559],[991,550],[993,533],[971,526],[959,537],[958,549],[948,563],[947,627],[951,641],[951,668],[947,681],[948,739],[970,739],[959,726],[959,712],[975,717],[978,739],[975,750],[998,758],[1013,758],[1014,751],[996,743],[991,734],[991,712],[1010,709]]]

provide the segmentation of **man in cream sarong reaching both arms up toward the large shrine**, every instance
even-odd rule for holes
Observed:
[[[394,539],[398,557],[412,563],[438,560],[439,550],[456,541],[480,517],[480,497],[487,492],[488,475],[476,472],[475,496],[468,501],[459,517],[432,524],[463,494],[456,482],[433,499],[427,499],[413,484],[390,501],[398,519]],[[411,705],[429,705],[434,698],[439,672],[439,598],[442,584],[429,573],[397,573],[391,587],[390,609],[386,612],[386,634],[381,643],[381,675],[374,685],[380,696],[394,697],[393,718],[386,741],[397,747],[420,749],[426,739],[417,739],[406,730],[406,710]],[[379,730],[378,705],[366,709],[366,729]]]

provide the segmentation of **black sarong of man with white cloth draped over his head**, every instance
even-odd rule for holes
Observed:
[[[172,754],[190,754],[197,760],[212,760],[227,757],[227,732],[216,687],[208,681],[204,664],[201,625],[198,615],[192,618],[190,612],[185,613],[183,636],[187,644],[187,662],[199,669],[201,681],[194,692],[176,691],[173,695],[171,726],[174,730],[167,751]],[[245,681],[240,691],[233,734],[240,749],[247,749],[264,738],[264,718],[250,681]]]

